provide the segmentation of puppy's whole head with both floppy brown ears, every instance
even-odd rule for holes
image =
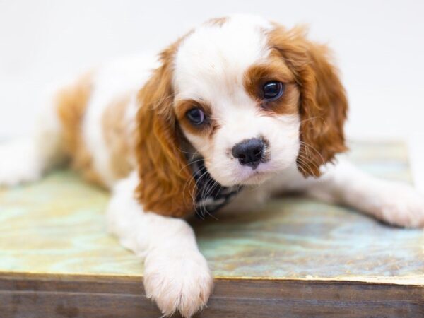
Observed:
[[[196,184],[184,151],[232,186],[290,165],[318,177],[346,149],[345,91],[326,47],[302,28],[252,16],[210,20],[160,59],[139,93],[138,194],[147,210],[192,211]]]

